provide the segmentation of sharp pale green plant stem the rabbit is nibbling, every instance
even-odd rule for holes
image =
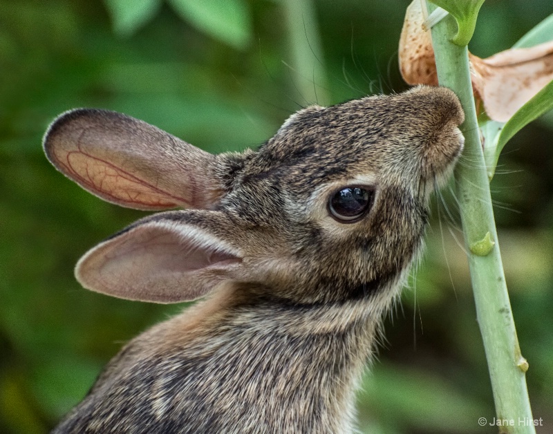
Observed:
[[[429,2],[427,5],[429,10],[433,9]],[[500,426],[499,431],[535,433],[525,378],[528,364],[518,346],[501,263],[489,180],[478,133],[468,50],[467,46],[451,43],[450,39],[456,31],[456,21],[447,16],[432,28],[432,39],[440,85],[451,88],[458,95],[465,111],[465,122],[461,126],[465,135],[465,151],[456,167],[455,178],[496,415],[498,419],[507,419],[513,424]],[[480,248],[482,243],[489,248]]]

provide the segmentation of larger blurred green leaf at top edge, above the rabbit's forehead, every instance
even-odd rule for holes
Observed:
[[[169,0],[182,18],[238,50],[252,39],[250,9],[244,0]]]

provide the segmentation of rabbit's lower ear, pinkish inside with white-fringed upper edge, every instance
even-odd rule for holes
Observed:
[[[77,280],[121,299],[177,303],[234,279],[240,252],[211,230],[167,214],[139,221],[91,249],[77,263]]]

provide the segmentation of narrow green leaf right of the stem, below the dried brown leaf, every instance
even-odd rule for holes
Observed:
[[[521,109],[518,109],[505,124],[490,122],[491,125],[488,128],[482,129],[485,137],[484,157],[490,180],[494,176],[499,154],[505,144],[524,126],[551,109],[553,109],[553,81],[536,93]]]

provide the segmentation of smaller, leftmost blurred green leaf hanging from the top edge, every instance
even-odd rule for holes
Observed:
[[[113,29],[121,36],[132,35],[147,23],[160,7],[161,0],[104,0],[113,21]]]

